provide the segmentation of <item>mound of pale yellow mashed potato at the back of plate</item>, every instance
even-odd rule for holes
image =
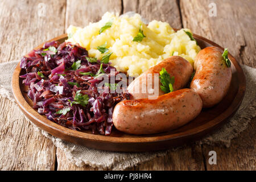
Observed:
[[[113,20],[112,26],[99,34],[101,27],[110,20]],[[146,38],[142,42],[133,42],[140,25]],[[189,29],[183,30],[191,32]],[[119,17],[105,13],[99,22],[90,23],[84,28],[70,26],[67,41],[79,43],[88,50],[90,57],[97,59],[105,55],[97,47],[107,43],[109,52],[113,52],[110,56],[112,65],[118,71],[137,77],[172,55],[184,57],[193,65],[200,47],[183,30],[175,32],[170,24],[156,20],[146,26],[138,14]]]

